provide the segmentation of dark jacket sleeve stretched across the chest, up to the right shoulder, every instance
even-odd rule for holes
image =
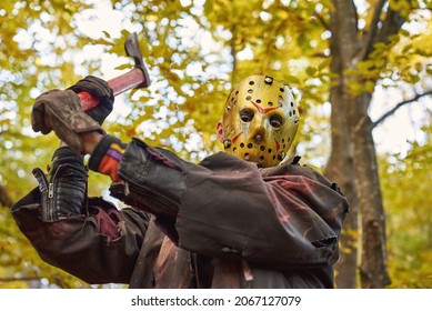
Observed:
[[[298,163],[261,171],[218,153],[192,164],[133,140],[119,175],[150,211],[175,217],[171,237],[183,249],[284,269],[333,264],[339,257],[346,200]]]

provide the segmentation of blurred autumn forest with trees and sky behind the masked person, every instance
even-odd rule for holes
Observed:
[[[40,93],[133,66],[152,83],[119,96],[104,129],[199,162],[233,84],[287,81],[301,112],[291,150],[350,200],[339,288],[432,288],[430,0],[3,1],[0,6],[0,288],[87,284],[41,261],[9,208],[37,187],[58,146],[31,129]],[[90,173],[90,194],[110,180]],[[119,204],[121,208],[121,204]]]

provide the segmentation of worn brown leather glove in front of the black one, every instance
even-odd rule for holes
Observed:
[[[58,138],[81,153],[80,133],[101,131],[100,124],[81,108],[79,97],[71,90],[51,90],[34,100],[31,112],[33,131],[48,134],[53,130]]]

